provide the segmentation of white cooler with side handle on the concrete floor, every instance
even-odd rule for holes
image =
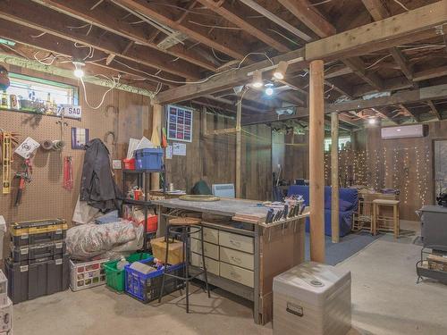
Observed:
[[[307,262],[274,277],[274,335],[350,331],[350,272]]]

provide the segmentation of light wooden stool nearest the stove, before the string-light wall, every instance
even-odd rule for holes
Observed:
[[[392,231],[394,239],[399,238],[399,200],[375,199],[373,200],[373,222],[371,225],[371,233],[375,235],[377,230]],[[380,208],[382,206],[392,207],[392,216],[380,216]],[[392,222],[392,224],[390,224]]]

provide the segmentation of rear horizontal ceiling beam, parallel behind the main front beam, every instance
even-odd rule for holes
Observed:
[[[358,99],[353,101],[344,101],[325,105],[325,113],[342,113],[350,111],[359,111],[362,109],[380,108],[388,105],[412,104],[427,100],[443,99],[447,97],[447,84],[437,85],[427,88],[417,88],[408,91],[396,92],[390,96],[374,97],[368,100]],[[281,116],[280,120],[298,119],[308,116],[308,108],[297,107],[297,113],[294,115]],[[245,118],[244,124],[268,123],[278,120],[275,113],[265,113]]]

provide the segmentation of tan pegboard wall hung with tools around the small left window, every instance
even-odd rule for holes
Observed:
[[[80,86],[74,80],[3,65],[11,72]],[[86,88],[90,105],[97,105],[107,89],[90,84],[86,84]],[[41,148],[37,150],[32,159],[32,181],[26,184],[21,205],[13,206],[19,184],[18,179],[13,179],[11,194],[3,195],[0,193],[0,214],[4,216],[6,222],[55,217],[71,222],[73,209],[79,197],[84,156],[84,150],[72,150],[72,127],[89,129],[90,139],[100,138],[104,142],[105,134],[108,131],[114,131],[115,144],[112,144],[112,136],[106,139],[107,143],[105,142],[113,158],[122,158],[126,155],[129,138],[141,138],[143,135],[150,136],[151,107],[147,96],[139,96],[114,89],[105,97],[104,105],[94,110],[86,105],[81,86],[79,93],[82,120],[65,119],[68,126],[63,130],[63,141],[66,145],[62,152],[45,151]],[[56,123],[59,120],[59,118],[52,116],[0,111],[0,128],[19,133],[19,143],[27,137],[34,138],[39,143],[45,139],[60,139],[61,128]],[[74,186],[72,190],[63,188],[64,156],[72,156],[73,158]],[[21,171],[21,163],[23,162],[19,155],[13,155],[13,158],[12,175]],[[118,182],[121,180],[120,174],[119,171],[116,173]]]

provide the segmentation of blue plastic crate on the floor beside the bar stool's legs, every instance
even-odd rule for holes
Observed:
[[[150,257],[144,261],[143,264],[154,264],[154,257]],[[155,272],[144,274],[131,269],[131,264],[124,267],[125,270],[125,291],[131,297],[134,297],[147,304],[150,301],[157,299],[162,289],[163,269]],[[184,277],[185,264],[175,264],[169,266],[169,273]],[[166,276],[164,279],[164,295],[172,293],[177,289],[184,287],[184,281],[177,278]]]

